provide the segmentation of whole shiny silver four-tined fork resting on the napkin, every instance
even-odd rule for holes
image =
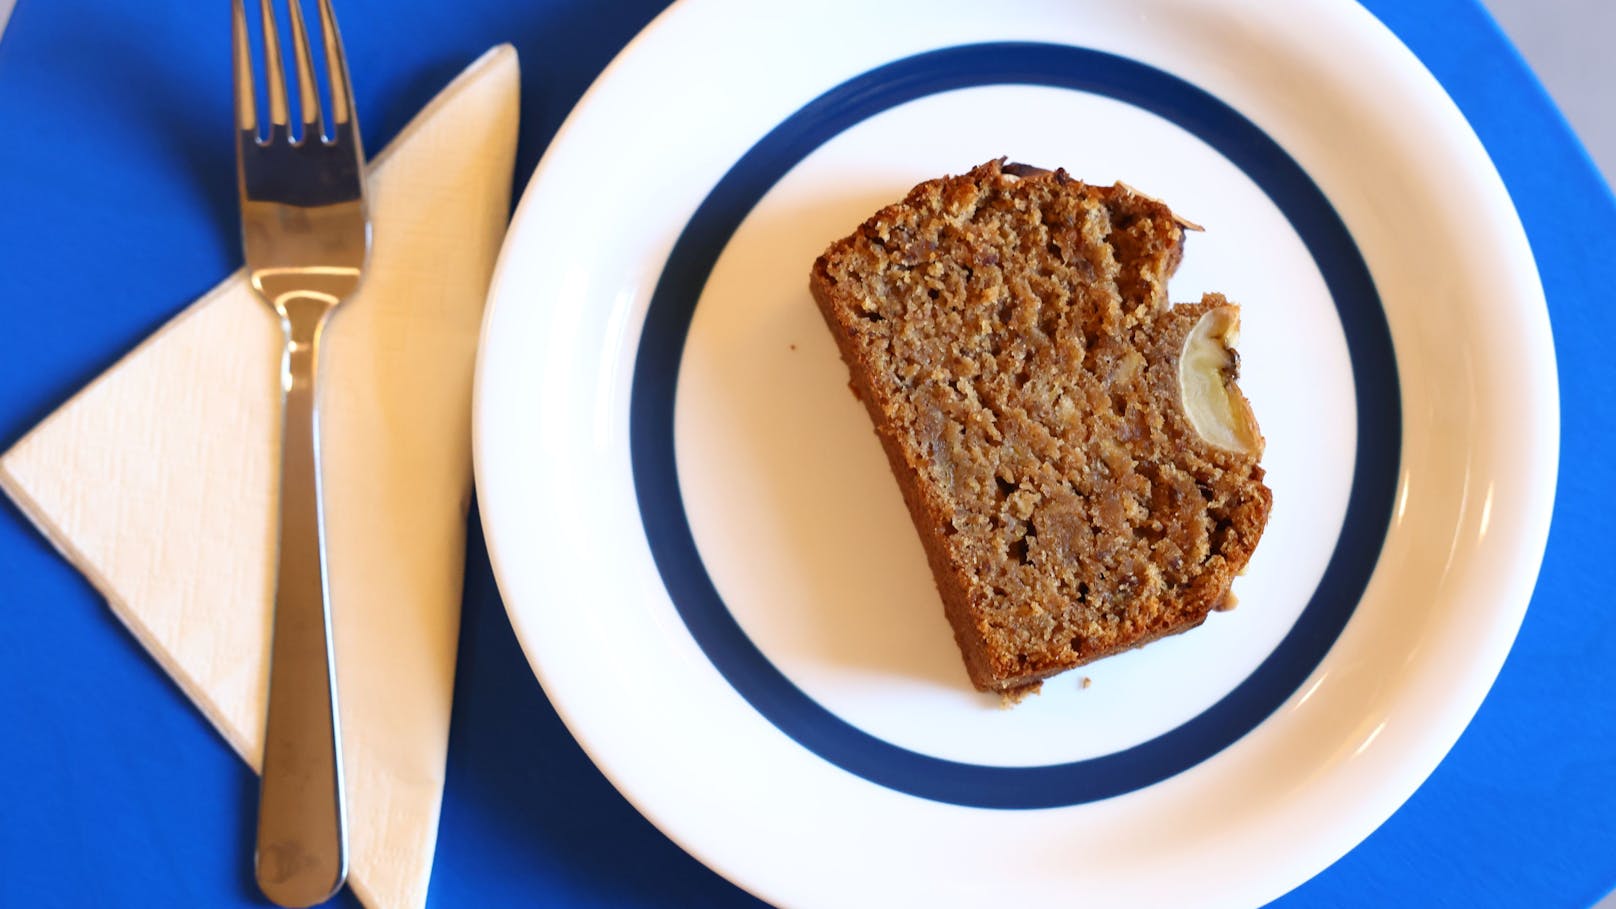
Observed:
[[[302,137],[294,141],[270,0],[260,0],[268,136],[260,141],[252,49],[233,0],[236,175],[252,288],[286,332],[281,361],[281,516],[255,869],[263,894],[314,906],[347,877],[343,739],[331,653],[315,367],[325,320],[359,286],[370,252],[364,150],[330,0],[318,0],[331,84],[330,129],[299,0],[291,0]],[[328,133],[330,137],[323,137]]]

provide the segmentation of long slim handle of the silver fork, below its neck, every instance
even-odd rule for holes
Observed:
[[[323,903],[347,877],[315,422],[315,367],[328,309],[322,301],[291,301],[283,309],[281,519],[255,859],[259,888],[281,906]]]

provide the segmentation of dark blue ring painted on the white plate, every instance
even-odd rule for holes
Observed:
[[[871,736],[803,694],[724,607],[690,532],[674,463],[675,382],[690,319],[713,264],[753,205],[844,129],[908,100],[992,84],[1052,86],[1131,104],[1194,133],[1246,171],[1285,212],[1317,262],[1346,333],[1357,395],[1357,461],[1346,521],[1324,579],[1290,634],[1235,691],[1188,723],[1125,750],[1044,767],[984,767],[918,754]],[[674,607],[713,665],[763,717],[824,760],[881,786],[960,805],[1044,809],[1118,796],[1194,767],[1262,723],[1319,666],[1353,615],[1385,542],[1401,450],[1401,401],[1391,336],[1369,268],[1330,201],[1273,139],[1227,104],[1160,70],[1078,47],[1002,42],[921,53],[853,78],[776,126],[724,175],[685,225],[651,298],[633,370],[629,433],[645,532]]]

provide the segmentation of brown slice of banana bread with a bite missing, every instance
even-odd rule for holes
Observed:
[[[921,183],[813,265],[983,691],[1233,605],[1272,495],[1238,307],[1167,302],[1186,226],[1128,186],[999,160]]]

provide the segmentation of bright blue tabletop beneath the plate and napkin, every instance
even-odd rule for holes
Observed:
[[[1475,0],[1364,0],[1458,100],[1548,291],[1559,495],[1509,662],[1446,760],[1278,906],[1574,906],[1616,886],[1616,204]],[[343,0],[365,142],[522,53],[522,186],[663,0]],[[0,40],[0,448],[241,262],[228,8],[21,0]],[[1508,364],[1498,364],[1508,369]],[[430,904],[756,906],[595,770],[533,683],[472,519]],[[0,906],[262,906],[255,780],[0,500]],[[1252,856],[1262,862],[1262,856]],[[806,870],[803,873],[816,873]],[[335,904],[356,906],[347,893]]]

